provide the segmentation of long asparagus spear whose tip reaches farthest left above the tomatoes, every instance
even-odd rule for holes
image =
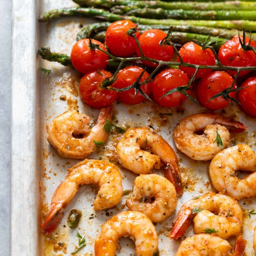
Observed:
[[[96,8],[82,8],[82,7],[73,7],[73,8],[64,8],[64,9],[55,9],[50,12],[43,13],[40,17],[41,22],[47,22],[54,20],[60,17],[65,16],[85,16],[99,18],[101,20],[106,20],[114,22],[117,20],[131,20],[135,23],[140,23],[144,25],[194,25],[194,26],[204,26],[204,27],[218,27],[225,29],[240,29],[243,28],[246,31],[256,31],[256,22],[249,20],[155,20],[155,19],[145,19],[135,16],[123,16],[115,13],[110,13],[105,10],[96,9]]]

